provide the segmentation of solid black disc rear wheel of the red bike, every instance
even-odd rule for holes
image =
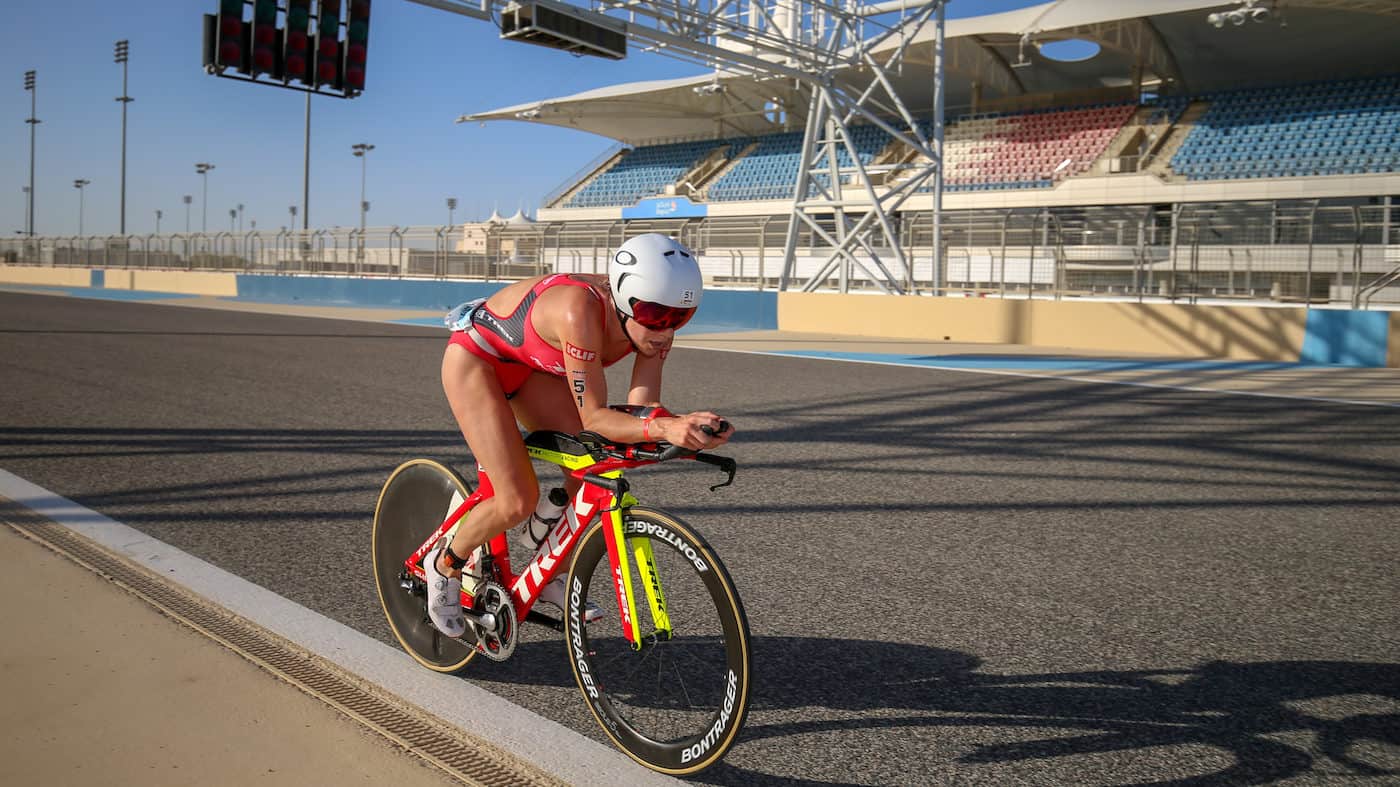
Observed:
[[[470,494],[452,468],[433,459],[410,459],[389,475],[374,508],[374,584],[384,615],[403,650],[437,672],[462,671],[476,648],[433,626],[423,580],[405,576],[403,563]]]

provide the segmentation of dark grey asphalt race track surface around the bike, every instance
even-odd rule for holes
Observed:
[[[0,293],[0,468],[392,643],[379,485],[469,468],[442,344]],[[665,389],[738,427],[732,487],[633,475],[755,636],[697,781],[1400,779],[1400,410],[694,349]],[[602,739],[553,632],[462,679]]]

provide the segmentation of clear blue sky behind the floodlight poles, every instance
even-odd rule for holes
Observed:
[[[1035,4],[953,0],[949,17]],[[29,94],[38,71],[35,231],[73,234],[84,190],[87,234],[116,232],[120,204],[122,67],[113,43],[130,41],[127,94],[129,232],[183,231],[182,195],[193,195],[190,227],[202,223],[209,174],[209,227],[227,228],[244,204],[244,227],[287,224],[301,204],[304,94],[204,74],[202,15],[217,0],[8,0],[0,25],[0,232],[24,227],[29,182]],[[346,101],[312,99],[311,223],[358,224],[360,167],[350,146],[371,143],[367,196],[371,225],[447,223],[533,209],[540,197],[613,144],[532,123],[454,123],[463,113],[567,95],[609,84],[700,73],[654,55],[622,62],[501,41],[487,22],[407,0],[377,0],[365,91]],[[300,218],[298,218],[300,221]]]

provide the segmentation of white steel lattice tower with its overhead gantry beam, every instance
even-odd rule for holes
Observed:
[[[414,1],[493,21],[518,8],[505,0]],[[904,291],[906,283],[913,280],[893,214],[930,178],[934,179],[935,203],[939,199],[942,123],[935,120],[934,133],[925,134],[892,77],[903,70],[904,55],[917,31],[935,17],[938,31],[942,29],[946,0],[896,0],[879,6],[862,0],[592,0],[587,6],[528,1],[553,4],[599,25],[616,25],[613,17],[622,17],[622,29],[630,43],[728,74],[759,81],[787,78],[805,87],[809,109],[781,286],[787,286],[794,265],[801,224],[832,246],[815,280],[825,279],[833,267],[840,267],[844,277],[848,266],[860,267],[892,293]],[[939,97],[935,118],[941,118],[941,90],[937,87],[941,84],[941,32],[937,42],[939,56],[934,59],[931,77]],[[762,111],[760,105],[743,98],[735,105],[745,113]],[[529,112],[540,109],[517,111],[517,115]],[[923,154],[923,164],[883,195],[875,193],[851,136],[857,119],[882,127]],[[844,164],[843,153],[848,155]],[[847,196],[855,190],[864,192],[861,197]],[[823,218],[832,216],[836,221],[827,230]],[[897,269],[890,270],[885,258]]]

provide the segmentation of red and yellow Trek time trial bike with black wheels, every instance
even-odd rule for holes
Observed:
[[[525,447],[582,486],[518,571],[505,534],[483,549],[483,580],[475,592],[462,594],[468,630],[461,639],[428,619],[423,560],[491,496],[490,479],[479,473],[473,490],[434,459],[407,461],[389,475],[375,507],[372,553],[393,636],[419,664],[455,674],[477,655],[510,658],[519,623],[549,626],[564,634],[578,689],[617,748],[662,773],[690,774],[714,765],[734,745],[749,704],[743,605],[706,539],[679,518],[641,506],[623,471],[693,459],[728,473],[710,487],[715,490],[734,483],[734,459],[668,443],[613,443],[588,431],[533,431]],[[535,602],[566,569],[560,620]],[[595,609],[591,623],[589,605],[603,612],[599,619]]]

